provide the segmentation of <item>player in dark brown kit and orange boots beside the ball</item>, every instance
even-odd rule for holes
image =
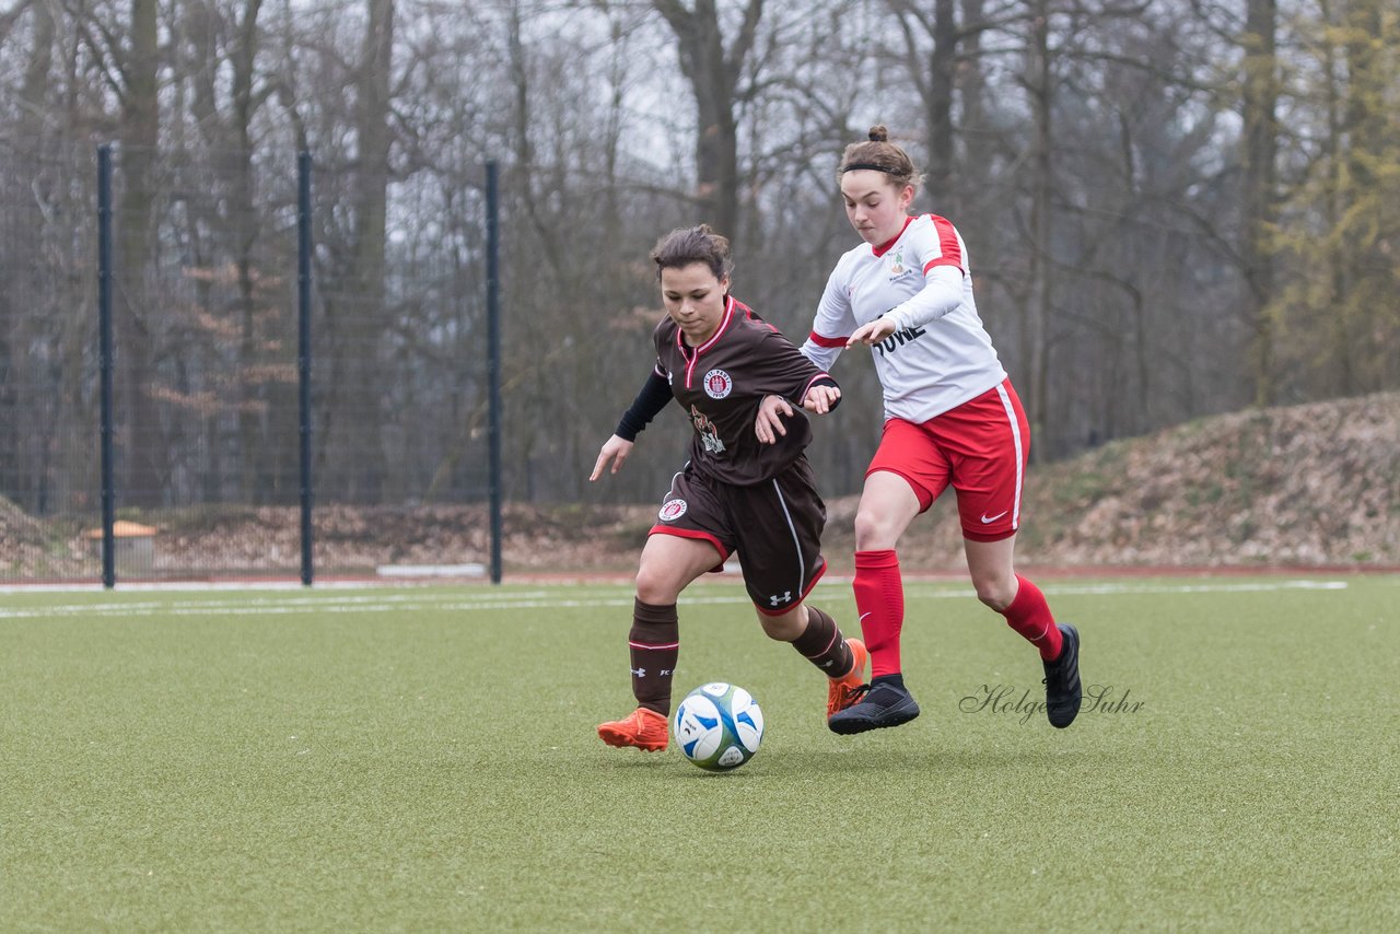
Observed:
[[[622,468],[637,433],[672,399],[694,428],[690,459],[671,483],[637,570],[629,650],[637,710],[598,727],[612,746],[658,751],[679,653],[676,601],[696,578],[738,553],[763,632],[827,676],[827,717],[855,702],[865,647],[806,602],[826,571],[826,507],[808,466],[812,427],[801,410],[776,441],[756,433],[770,395],[812,413],[833,409],[840,388],[776,328],[729,295],[729,241],[701,224],[675,230],[651,251],[666,318],[652,339],[657,364],[588,478]]]

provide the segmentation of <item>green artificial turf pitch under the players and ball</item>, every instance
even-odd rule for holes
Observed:
[[[1042,581],[1141,704],[1067,731],[966,711],[1037,660],[910,584],[923,717],[846,738],[696,587],[678,686],[767,718],[729,774],[596,739],[622,587],[8,594],[0,930],[1396,930],[1400,578],[1316,580]]]

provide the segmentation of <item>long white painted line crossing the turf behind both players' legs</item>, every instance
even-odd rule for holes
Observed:
[[[1051,597],[1117,597],[1145,594],[1256,594],[1287,590],[1343,591],[1345,581],[1261,581],[1236,584],[1049,584],[1042,588]],[[273,616],[293,613],[386,613],[386,612],[480,612],[510,609],[573,609],[589,606],[631,606],[630,588],[617,587],[617,597],[568,598],[566,588],[557,591],[522,591],[510,595],[462,599],[459,594],[434,597],[421,594],[323,594],[304,597],[246,597],[216,599],[165,601],[109,601],[95,604],[60,604],[56,606],[0,606],[0,619],[59,619],[59,618],[139,618],[139,616]],[[557,595],[554,595],[557,594]],[[906,597],[914,599],[972,599],[967,588],[928,588],[914,584]],[[683,605],[748,604],[743,594],[729,597],[696,595],[682,598]]]

